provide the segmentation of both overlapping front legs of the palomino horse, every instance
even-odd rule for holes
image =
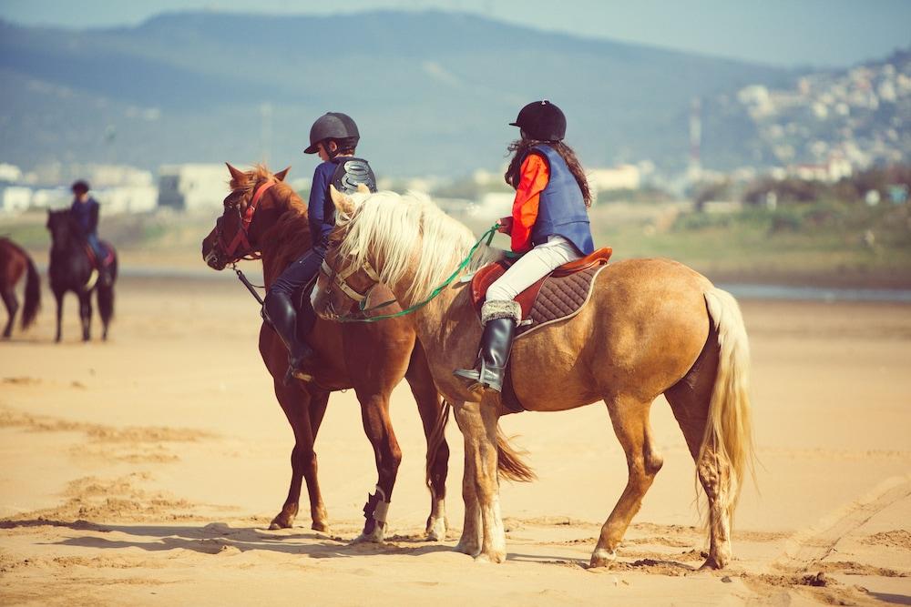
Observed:
[[[495,400],[480,403],[465,403],[456,409],[456,420],[465,437],[466,479],[463,494],[466,495],[466,528],[462,532],[463,542],[456,550],[473,548],[472,537],[466,533],[470,525],[480,521],[480,550],[475,553],[477,561],[503,562],[507,558],[506,532],[500,517],[499,481],[496,461],[496,422],[499,419]],[[471,492],[476,503],[470,504]],[[476,508],[469,520],[469,508]],[[468,552],[466,550],[460,550]]]

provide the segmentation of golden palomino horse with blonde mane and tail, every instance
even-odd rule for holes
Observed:
[[[315,309],[326,318],[351,309],[346,293],[367,292],[377,279],[403,306],[424,301],[475,241],[425,197],[333,192],[333,200],[338,224],[313,295]],[[501,255],[479,248],[474,267]],[[749,353],[737,303],[707,278],[668,259],[611,264],[593,288],[578,315],[517,339],[510,371],[527,410],[570,410],[598,400],[608,406],[626,452],[629,480],[601,528],[591,565],[616,558],[661,468],[649,410],[663,393],[709,501],[710,550],[703,567],[721,568],[731,560],[731,516],[744,470],[752,464]],[[496,392],[479,394],[453,377],[453,369],[472,366],[481,334],[468,291],[458,281],[442,289],[415,311],[415,325],[436,386],[453,403],[465,436],[466,519],[456,550],[503,561],[506,538],[496,476],[502,462],[493,440],[497,420],[509,411]]]

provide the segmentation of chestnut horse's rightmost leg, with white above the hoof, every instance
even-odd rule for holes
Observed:
[[[411,364],[405,379],[415,395],[417,410],[424,422],[427,439],[426,481],[430,487],[430,516],[427,517],[426,533],[430,541],[442,541],[446,537],[446,476],[449,472],[449,445],[446,443],[445,428],[449,412],[440,402],[434,378],[420,342],[415,342]]]

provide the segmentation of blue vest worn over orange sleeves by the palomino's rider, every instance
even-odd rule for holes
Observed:
[[[578,248],[579,253],[589,255],[595,245],[591,239],[589,212],[576,177],[553,147],[535,146],[528,151],[529,154],[533,152],[548,161],[550,179],[548,187],[541,192],[537,221],[531,229],[532,243],[537,246],[551,236],[562,236]]]

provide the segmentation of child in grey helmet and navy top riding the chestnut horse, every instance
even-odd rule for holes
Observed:
[[[289,373],[302,377],[312,369],[313,350],[300,335],[308,335],[316,321],[310,298],[303,298],[301,314],[294,306],[293,294],[316,278],[335,226],[335,206],[329,186],[353,194],[363,183],[376,191],[374,171],[363,158],[354,157],[360,139],[351,116],[329,112],[317,118],[310,128],[310,146],[304,154],[318,154],[322,163],[313,171],[310,200],[307,204],[312,248],[286,268],[269,287],[263,312],[288,348]]]

